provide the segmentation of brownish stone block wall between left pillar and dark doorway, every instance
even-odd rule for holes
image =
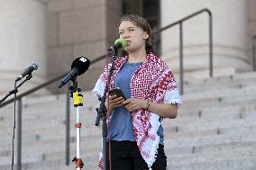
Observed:
[[[115,39],[116,23],[121,14],[118,0],[50,0],[47,7],[48,78],[70,70],[75,58],[93,60],[105,54]],[[57,66],[57,67],[56,67]],[[105,67],[102,60],[78,77],[78,85],[89,90]],[[59,92],[57,84],[50,85]]]

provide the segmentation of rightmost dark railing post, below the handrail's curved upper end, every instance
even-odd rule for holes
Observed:
[[[209,65],[210,65],[210,77],[214,76],[214,61],[213,61],[213,18],[212,18],[212,13],[209,11]]]

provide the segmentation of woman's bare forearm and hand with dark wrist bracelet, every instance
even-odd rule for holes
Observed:
[[[175,119],[178,114],[178,104],[153,103],[144,99],[131,98],[122,103],[129,112],[140,109],[154,112],[162,118]]]

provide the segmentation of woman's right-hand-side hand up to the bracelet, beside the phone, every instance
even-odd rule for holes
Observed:
[[[134,112],[140,109],[147,109],[149,103],[144,99],[131,98],[122,104],[129,112]]]

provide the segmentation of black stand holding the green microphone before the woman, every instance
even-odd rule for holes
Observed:
[[[105,107],[105,100],[106,100],[106,93],[109,89],[110,78],[114,72],[114,61],[117,58],[118,49],[115,48],[113,55],[112,55],[112,66],[109,70],[109,75],[107,77],[107,84],[105,85],[105,92],[104,95],[99,99],[101,101],[99,108],[96,108],[97,116],[96,116],[96,126],[99,125],[100,118],[102,118],[102,143],[103,143],[103,161],[104,161],[104,169],[106,170],[106,112],[107,109]]]

